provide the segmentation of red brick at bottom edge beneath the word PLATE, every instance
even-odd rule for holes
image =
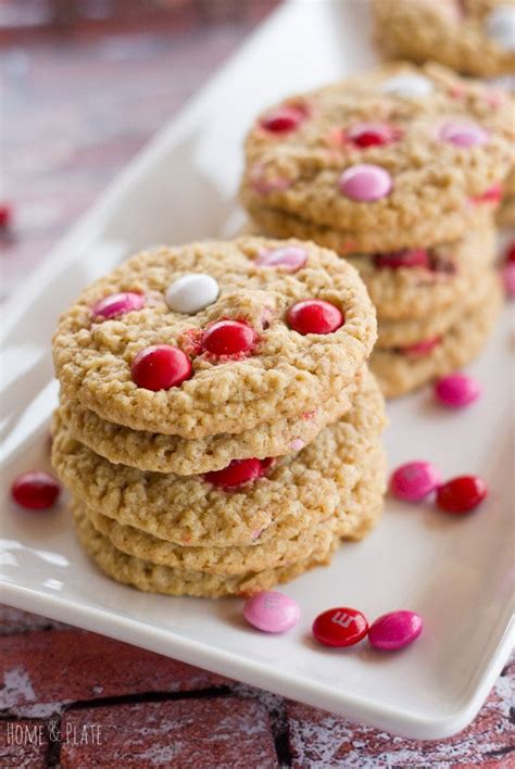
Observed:
[[[100,733],[101,744],[74,745],[88,729]],[[265,708],[239,697],[71,710],[63,718],[62,740],[62,769],[278,766]]]

